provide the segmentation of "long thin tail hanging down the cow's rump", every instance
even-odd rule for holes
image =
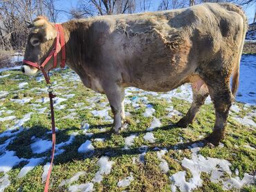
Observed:
[[[235,66],[234,66],[233,74],[232,74],[232,95],[234,97],[237,93],[237,88],[239,85],[240,60],[241,60],[241,54],[242,54],[243,48],[244,48],[244,39],[246,38],[246,31],[247,31],[247,26],[248,26],[247,18],[244,15],[244,12],[240,9],[240,11],[238,13],[243,18],[243,36],[242,36],[240,46],[239,46],[239,55],[237,55],[237,61],[235,62]]]

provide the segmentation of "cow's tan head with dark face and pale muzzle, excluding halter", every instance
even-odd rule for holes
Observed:
[[[53,50],[54,39],[57,36],[57,30],[53,23],[50,23],[46,17],[39,16],[33,23],[28,35],[24,59],[35,62],[39,65],[46,59],[48,54]],[[46,72],[53,67],[53,58],[46,64]],[[21,71],[26,75],[36,75],[38,69],[33,66],[23,64]]]

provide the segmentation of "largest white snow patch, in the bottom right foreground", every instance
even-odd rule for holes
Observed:
[[[253,175],[245,173],[243,180],[239,177],[231,177],[230,162],[227,160],[219,160],[212,157],[203,157],[203,155],[196,154],[200,148],[198,144],[193,144],[190,147],[192,151],[192,159],[184,158],[181,161],[182,166],[185,169],[189,169],[192,173],[192,178],[187,182],[185,180],[185,171],[179,171],[170,176],[172,181],[172,191],[176,191],[176,186],[179,186],[181,191],[192,191],[197,187],[202,186],[201,173],[205,172],[210,174],[210,181],[214,183],[222,182],[223,189],[241,188],[244,184],[252,184],[254,182]],[[227,173],[230,177],[225,177],[224,173]]]

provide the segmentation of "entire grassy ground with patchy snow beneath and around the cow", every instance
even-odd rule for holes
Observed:
[[[175,123],[192,102],[190,85],[167,93],[127,88],[127,122],[111,134],[104,95],[84,88],[71,70],[53,77],[57,144],[53,191],[253,191],[256,59],[243,56],[237,101],[226,139],[211,148],[199,140],[212,131],[207,99],[188,128]],[[42,76],[0,74],[0,191],[42,191],[49,169],[51,131]],[[240,103],[242,102],[242,103]],[[194,143],[193,143],[194,142]],[[31,182],[33,181],[33,182]]]

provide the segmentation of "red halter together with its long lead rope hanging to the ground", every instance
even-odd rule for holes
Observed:
[[[55,24],[55,29],[57,30],[57,37],[56,41],[54,44],[53,50],[49,53],[48,57],[44,60],[44,62],[39,65],[35,62],[28,61],[28,60],[23,60],[24,64],[27,64],[29,66],[33,66],[35,68],[38,68],[39,70],[42,71],[44,75],[44,79],[46,79],[46,84],[48,85],[48,95],[50,98],[50,108],[51,108],[51,122],[52,122],[52,141],[53,141],[53,148],[52,148],[52,155],[51,155],[51,164],[50,168],[48,169],[47,177],[46,177],[46,184],[44,186],[44,192],[48,191],[49,184],[50,184],[50,177],[51,177],[51,171],[53,168],[53,158],[54,158],[54,153],[55,153],[55,142],[56,142],[56,137],[55,137],[55,119],[54,119],[54,109],[53,109],[53,98],[55,95],[53,95],[53,89],[51,88],[51,82],[50,82],[50,77],[44,70],[44,66],[48,64],[48,61],[53,57],[53,67],[57,67],[57,54],[62,51],[62,60],[60,66],[62,68],[65,67],[65,62],[66,62],[66,49],[65,49],[65,39],[64,39],[64,30],[62,28],[62,24]]]

